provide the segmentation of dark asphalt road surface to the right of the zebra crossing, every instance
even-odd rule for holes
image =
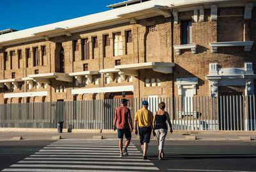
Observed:
[[[161,171],[256,171],[256,142],[166,141],[164,160],[158,153],[151,141],[148,158]]]

